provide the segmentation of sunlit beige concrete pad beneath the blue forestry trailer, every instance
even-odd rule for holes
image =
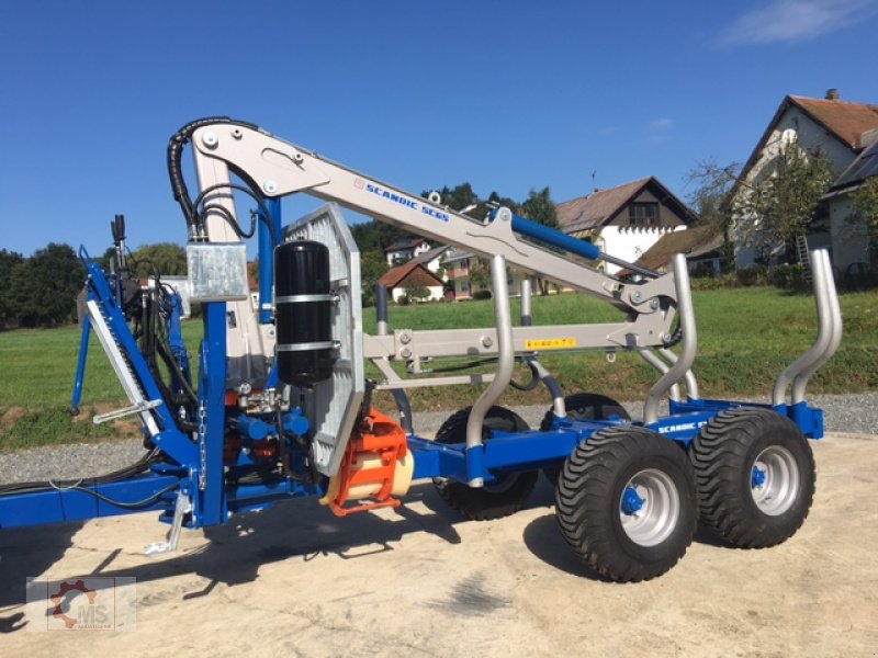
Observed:
[[[336,519],[311,500],[184,532],[145,557],[155,513],[0,532],[4,656],[875,656],[878,441],[812,443],[818,492],[786,544],[699,531],[668,574],[601,581],[528,509],[462,521],[416,487],[399,511]],[[27,632],[26,576],[137,579],[136,631]]]

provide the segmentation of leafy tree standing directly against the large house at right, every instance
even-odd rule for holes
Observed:
[[[752,220],[745,238],[758,250],[778,242],[786,248],[786,262],[793,264],[796,239],[814,228],[821,200],[835,172],[819,149],[806,152],[797,144],[787,145],[775,158],[770,172],[741,195],[736,209]]]

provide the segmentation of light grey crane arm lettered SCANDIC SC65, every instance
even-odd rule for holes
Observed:
[[[565,253],[525,239],[515,228],[524,226],[511,213],[499,212],[493,220],[479,222],[459,214],[438,198],[428,200],[384,183],[368,174],[328,160],[316,152],[285,141],[251,124],[239,122],[199,123],[192,131],[195,168],[199,173],[203,202],[223,206],[234,216],[232,195],[225,186],[230,183],[229,171],[252,185],[260,194],[279,197],[305,192],[315,197],[337,202],[358,213],[374,217],[405,230],[441,243],[460,248],[476,256],[503,256],[513,268],[528,274],[549,279],[567,287],[603,298],[637,316],[654,315],[673,306],[676,297],[672,274],[657,276],[646,283],[629,284],[599,272]],[[214,190],[213,192],[204,192]],[[211,241],[234,241],[222,213],[209,213],[204,227]],[[560,231],[559,242],[569,236]],[[583,256],[596,257],[597,248],[582,242]],[[564,246],[562,245],[562,248]],[[664,297],[666,302],[654,302]],[[655,319],[655,318],[653,318]],[[668,325],[673,314],[663,314],[662,325]],[[638,344],[660,344],[666,331],[646,329]],[[648,338],[652,334],[652,338]],[[645,341],[645,342],[644,342]]]

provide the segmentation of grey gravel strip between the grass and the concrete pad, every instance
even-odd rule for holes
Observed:
[[[828,432],[878,434],[878,393],[818,395],[811,397],[809,402],[823,409]],[[641,418],[642,402],[626,402],[624,407],[632,418]],[[515,409],[532,428],[539,427],[545,410],[545,406]],[[417,413],[415,431],[423,436],[432,436],[449,415],[449,412]],[[48,446],[0,455],[0,484],[99,475],[127,466],[143,454],[143,442],[139,439],[132,439],[98,444]]]

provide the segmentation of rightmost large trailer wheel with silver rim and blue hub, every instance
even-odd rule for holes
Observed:
[[[799,530],[817,472],[799,427],[769,409],[723,411],[689,447],[701,522],[742,548],[765,548]]]

